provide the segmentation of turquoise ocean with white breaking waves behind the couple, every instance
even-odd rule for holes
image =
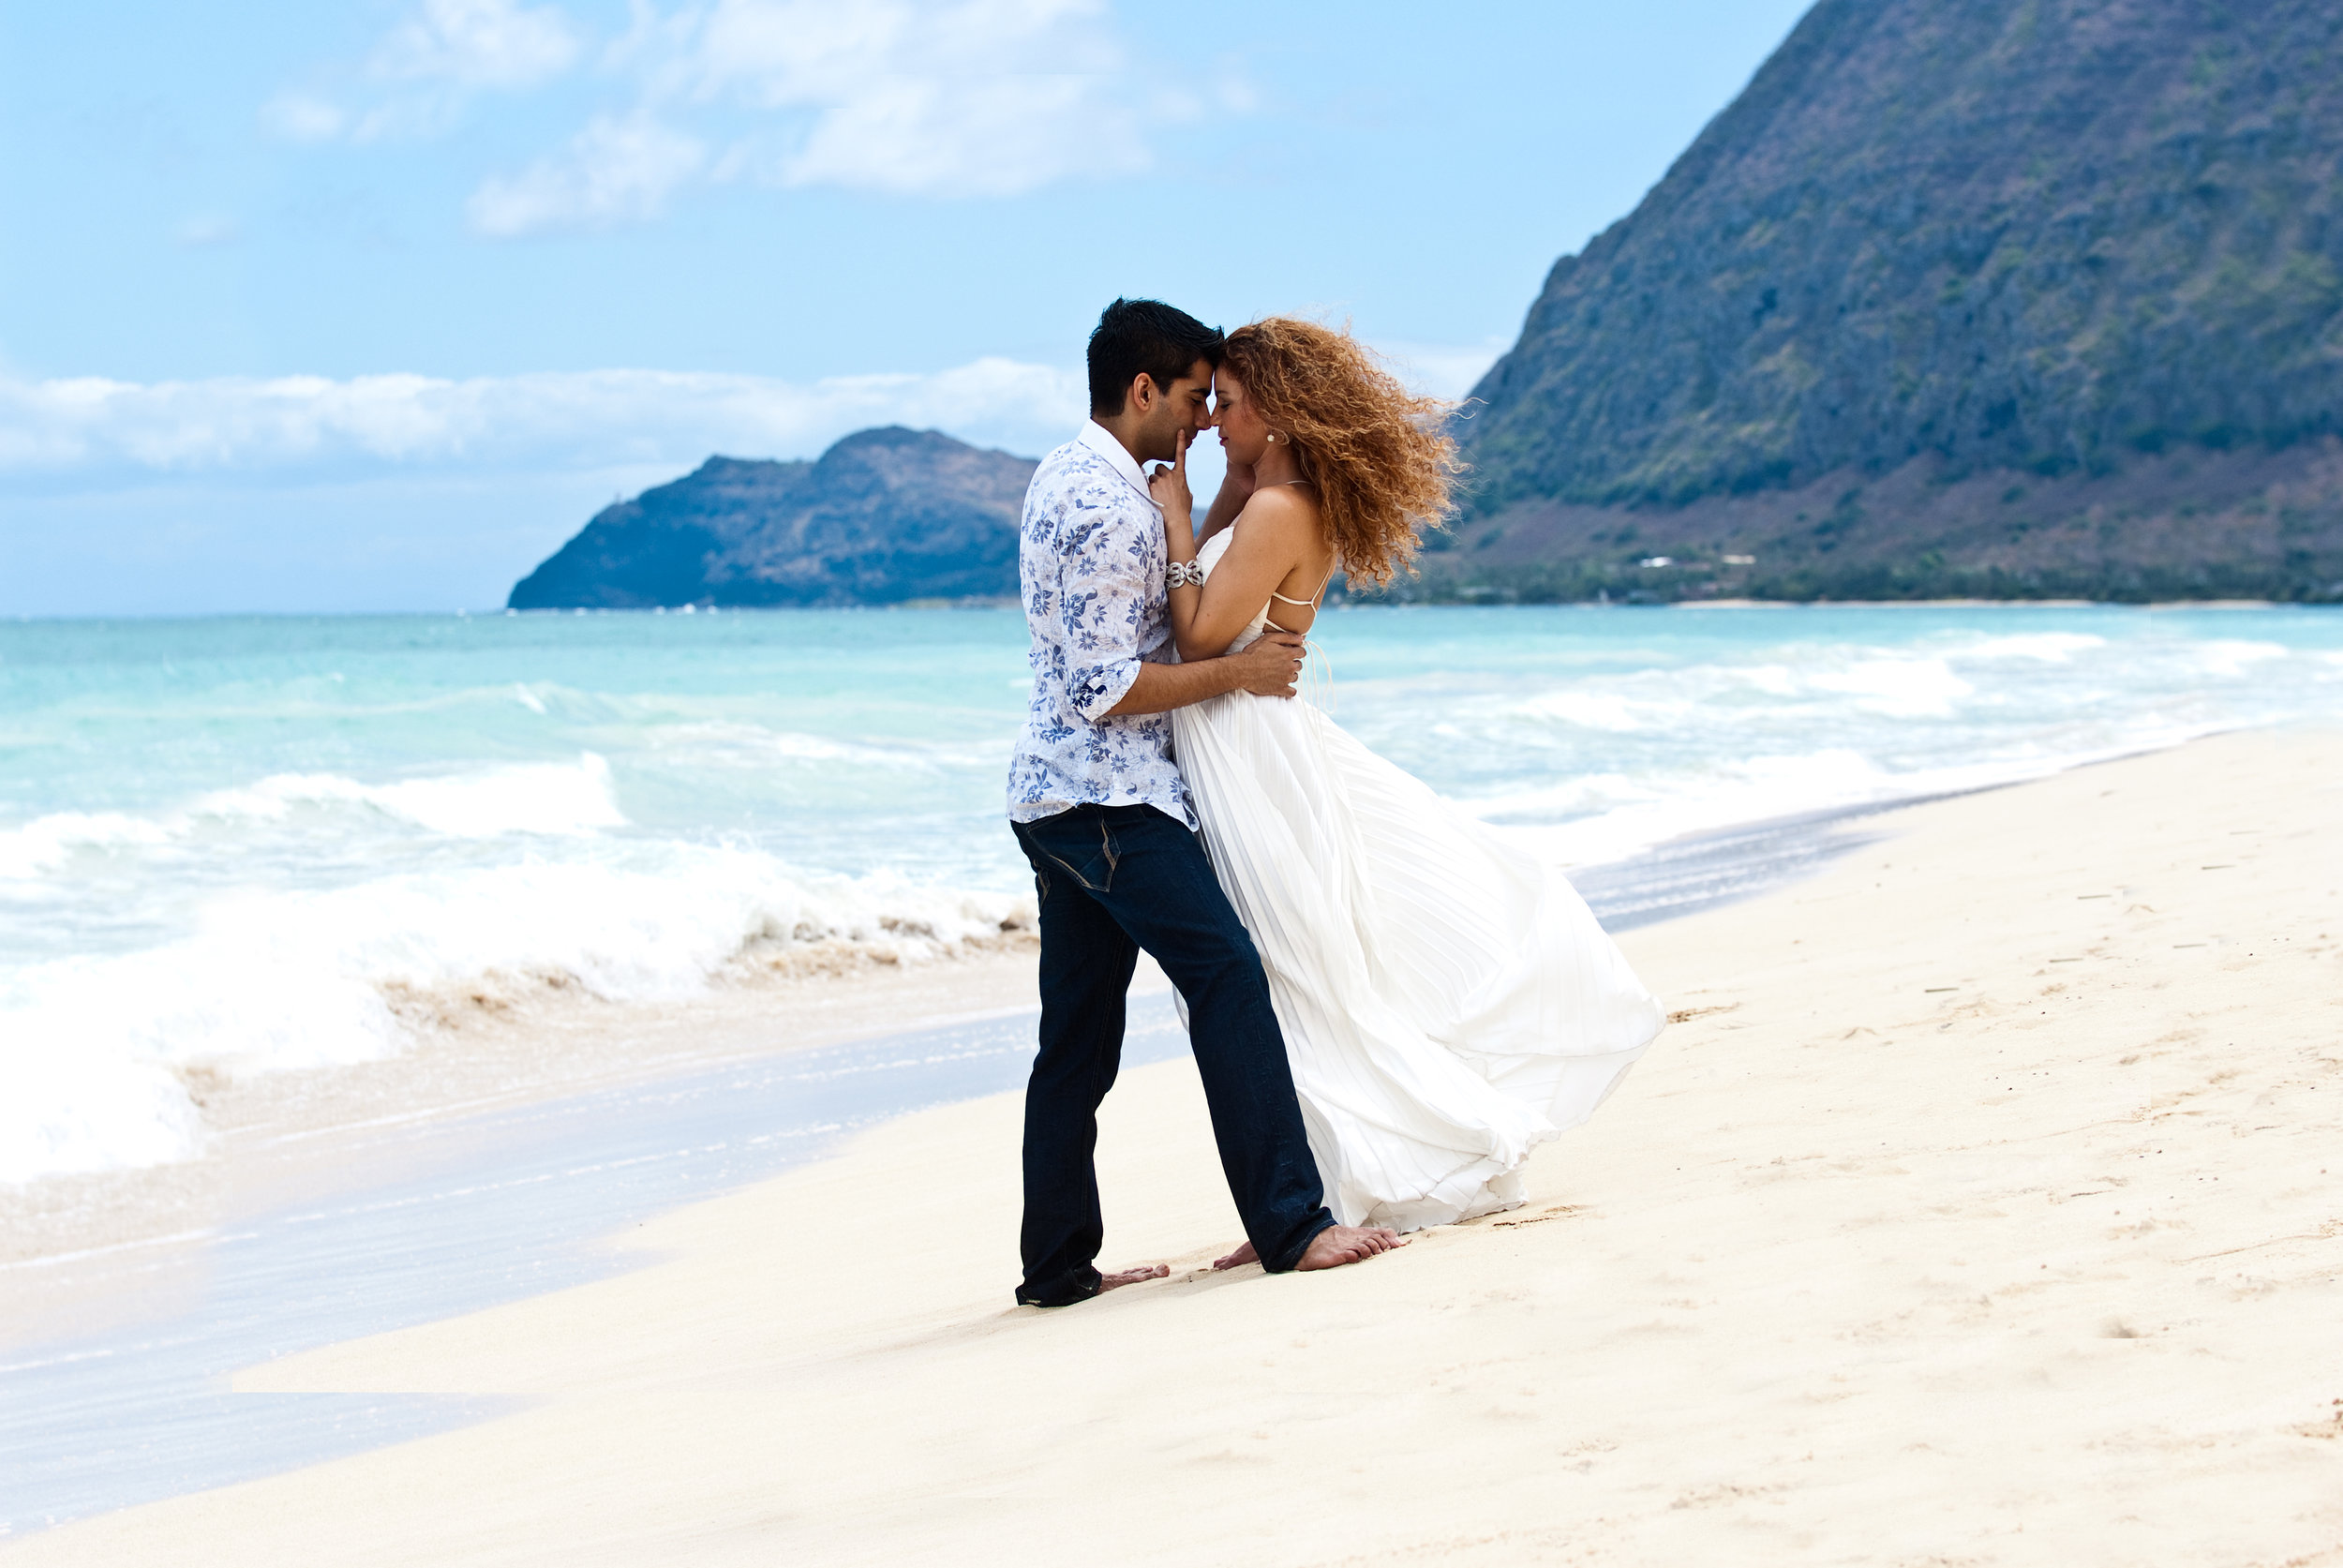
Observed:
[[[1317,649],[1340,724],[1610,888],[2343,715],[2322,609],[1366,607]],[[998,940],[1024,659],[991,609],[0,623],[0,1181],[199,1153],[190,1071],[398,1052],[433,991]]]

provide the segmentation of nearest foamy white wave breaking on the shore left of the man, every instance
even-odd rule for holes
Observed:
[[[759,851],[658,858],[227,898],[176,942],[19,968],[0,982],[0,1181],[199,1153],[192,1069],[241,1078],[382,1057],[429,1027],[417,998],[546,982],[677,998],[790,949],[918,963],[1033,914],[1022,895],[808,879]]]

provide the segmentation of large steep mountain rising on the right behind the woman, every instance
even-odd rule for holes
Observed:
[[[1823,0],[1474,398],[1425,595],[2343,598],[2343,7]]]

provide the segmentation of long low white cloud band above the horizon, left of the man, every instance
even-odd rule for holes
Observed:
[[[136,473],[684,469],[710,452],[804,457],[872,424],[1038,452],[1085,408],[1080,373],[1007,359],[820,382],[689,370],[0,380],[0,476],[54,488]]]

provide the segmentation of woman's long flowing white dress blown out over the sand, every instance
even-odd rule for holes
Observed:
[[[1204,541],[1207,577],[1232,534]],[[1232,691],[1172,722],[1336,1219],[1418,1230],[1521,1205],[1530,1148],[1664,1024],[1586,900],[1303,698]]]

